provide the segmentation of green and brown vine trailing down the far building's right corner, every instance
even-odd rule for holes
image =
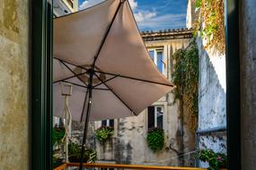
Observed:
[[[187,49],[179,49],[174,55],[172,81],[177,86],[173,90],[174,103],[180,101],[180,109],[183,104],[190,117],[190,127],[196,131],[198,122],[198,96],[199,96],[199,51],[193,41]]]

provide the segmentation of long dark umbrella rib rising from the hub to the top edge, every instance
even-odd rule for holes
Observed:
[[[102,47],[103,47],[103,45],[104,45],[104,43],[105,43],[105,41],[106,41],[106,38],[107,38],[108,35],[109,35],[110,29],[111,29],[111,27],[112,27],[112,25],[113,25],[113,22],[115,21],[117,15],[118,15],[118,13],[119,13],[119,9],[120,9],[120,7],[121,7],[121,4],[123,4],[123,1],[120,0],[120,1],[119,1],[119,6],[118,6],[116,12],[114,13],[114,16],[113,16],[112,20],[110,21],[110,25],[109,25],[108,29],[106,30],[106,32],[105,32],[105,34],[104,34],[104,37],[102,38],[101,45],[100,45],[100,47],[99,47],[99,49],[98,49],[96,55],[94,56],[93,69],[94,69],[95,64],[96,64],[96,61],[97,61],[97,59],[98,59],[98,57],[99,57],[99,55],[100,55],[100,53],[101,53],[101,51],[102,51]]]

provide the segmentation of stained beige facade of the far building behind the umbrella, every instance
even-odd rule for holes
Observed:
[[[163,74],[171,80],[172,54],[181,47],[187,47],[189,42],[189,38],[148,41],[146,47],[163,47],[163,62],[167,64]],[[93,133],[90,132],[89,143],[97,150],[98,158],[121,164],[193,166],[192,155],[177,157],[179,154],[182,155],[195,149],[195,135],[190,132],[186,114],[184,114],[184,122],[181,123],[178,104],[173,105],[172,101],[173,96],[170,93],[154,103],[154,105],[163,106],[163,129],[165,132],[163,150],[154,153],[147,147],[147,111],[145,110],[136,117],[115,120],[115,135],[104,144],[96,140]],[[101,122],[96,122],[91,126],[90,131],[92,128],[96,129],[100,126]],[[181,126],[183,126],[183,132],[181,132]],[[80,142],[82,141],[82,127],[73,123],[73,136]]]

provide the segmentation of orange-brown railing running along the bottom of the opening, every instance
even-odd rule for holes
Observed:
[[[56,167],[54,170],[66,170],[68,167],[78,167],[79,163],[66,163]],[[142,166],[142,165],[119,165],[119,164],[102,164],[102,163],[84,163],[86,168],[109,169],[152,169],[152,170],[206,170],[199,167],[175,167],[175,166]]]

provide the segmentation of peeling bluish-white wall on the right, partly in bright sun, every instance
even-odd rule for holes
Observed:
[[[202,40],[199,46],[199,128],[205,131],[226,126],[225,55],[206,50]],[[226,152],[226,132],[199,136],[199,149]],[[200,166],[206,166],[200,164]]]

